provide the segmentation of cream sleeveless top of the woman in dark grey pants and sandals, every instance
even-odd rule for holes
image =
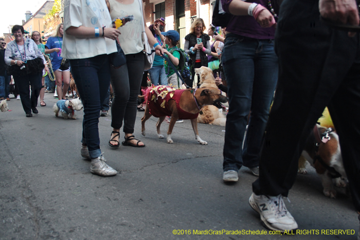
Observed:
[[[134,20],[126,23],[124,26],[119,27],[121,34],[119,35],[119,41],[122,50],[125,54],[138,53],[142,51],[143,45],[141,41],[142,32],[142,6],[140,6],[139,0],[134,0],[132,4],[121,4],[116,0],[109,0],[110,3],[110,15],[114,20],[118,17],[124,17],[133,15]],[[141,9],[141,11],[140,11]]]

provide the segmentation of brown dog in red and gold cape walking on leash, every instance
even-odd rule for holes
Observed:
[[[145,115],[141,118],[141,134],[145,136],[145,122],[153,115],[159,118],[156,123],[158,138],[164,138],[160,133],[160,125],[166,116],[171,116],[168,136],[168,143],[173,143],[171,133],[177,119],[190,119],[195,139],[201,144],[203,141],[197,131],[197,115],[205,105],[213,104],[221,108],[221,102],[227,102],[227,98],[221,94],[219,88],[198,88],[198,89],[178,89],[169,86],[155,86],[149,90]]]

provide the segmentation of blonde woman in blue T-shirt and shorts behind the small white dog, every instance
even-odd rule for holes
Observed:
[[[45,54],[50,54],[52,70],[55,75],[56,81],[56,91],[59,97],[59,100],[66,99],[66,92],[70,84],[70,65],[61,66],[61,61],[63,60],[60,57],[61,48],[63,44],[63,35],[64,35],[64,26],[59,24],[52,36],[48,38],[45,45]],[[62,90],[62,83],[64,82],[64,87]]]

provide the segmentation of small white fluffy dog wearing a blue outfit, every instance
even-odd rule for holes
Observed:
[[[75,111],[80,111],[83,108],[82,102],[80,99],[72,99],[72,100],[59,100],[52,107],[52,110],[55,113],[55,116],[58,117],[59,112],[64,119],[76,119]]]

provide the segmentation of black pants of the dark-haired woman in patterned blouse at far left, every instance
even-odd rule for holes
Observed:
[[[28,74],[25,76],[13,76],[16,87],[19,88],[21,103],[25,113],[31,113],[31,108],[38,105],[38,98],[41,90],[41,78],[43,73]],[[31,97],[30,97],[31,85]]]

